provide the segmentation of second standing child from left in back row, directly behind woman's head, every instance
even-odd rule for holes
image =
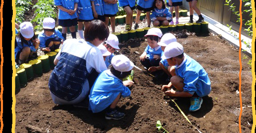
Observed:
[[[77,13],[78,13],[78,29],[77,32],[81,39],[84,39],[83,25],[84,28],[88,23],[93,20],[93,10],[90,0],[79,0]]]

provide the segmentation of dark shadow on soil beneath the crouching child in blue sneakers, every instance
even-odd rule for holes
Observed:
[[[164,99],[170,100],[172,98],[165,97]],[[180,107],[180,109],[183,111],[184,114],[186,114],[186,115],[190,114],[196,118],[204,117],[213,108],[212,97],[209,97],[209,96],[203,97],[203,103],[201,105],[201,108],[195,112],[189,112],[189,106],[190,106],[189,98],[178,97],[178,98],[175,98],[174,100],[177,103],[177,105]],[[177,112],[180,112],[180,110],[176,107],[175,103],[173,103],[172,100],[169,101],[169,105],[172,108],[174,108]]]

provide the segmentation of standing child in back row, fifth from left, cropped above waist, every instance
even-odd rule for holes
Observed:
[[[119,6],[124,8],[126,12],[126,18],[125,18],[125,30],[131,30],[132,23],[133,23],[133,10],[135,7],[135,0],[118,0]]]

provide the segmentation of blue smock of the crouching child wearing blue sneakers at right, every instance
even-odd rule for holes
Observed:
[[[179,66],[175,66],[175,73],[184,79],[185,86],[183,91],[189,94],[196,94],[199,97],[207,96],[211,92],[211,81],[207,72],[194,59],[185,55],[185,58]]]

